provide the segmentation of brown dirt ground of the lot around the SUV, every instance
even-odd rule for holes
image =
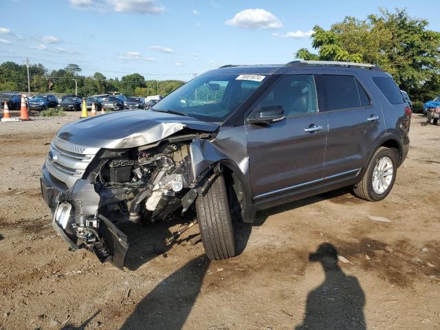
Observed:
[[[440,329],[440,126],[414,115],[384,201],[337,190],[260,212],[218,262],[186,241],[197,228],[168,248],[173,221],[126,228],[122,272],[70,252],[40,195],[77,117],[0,123],[0,329]]]

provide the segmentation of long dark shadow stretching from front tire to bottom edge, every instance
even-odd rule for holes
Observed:
[[[209,265],[209,259],[202,255],[170,274],[137,304],[120,329],[181,329],[199,296]]]

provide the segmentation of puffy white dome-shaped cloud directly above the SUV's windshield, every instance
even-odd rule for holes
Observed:
[[[246,30],[278,29],[283,27],[272,12],[264,9],[246,9],[235,14],[234,18],[225,21],[226,24]]]

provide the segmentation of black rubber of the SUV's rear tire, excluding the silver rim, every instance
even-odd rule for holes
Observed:
[[[373,188],[373,179],[374,179],[373,176],[375,175],[375,170],[377,168],[378,163],[382,159],[386,159],[386,160],[389,159],[393,164],[393,168],[392,168],[393,177],[391,177],[391,181],[387,183],[388,186],[386,187],[386,189],[380,189],[380,191],[377,191],[377,188],[376,189]],[[365,199],[366,201],[381,201],[386,196],[388,196],[388,194],[391,192],[391,189],[393,189],[394,181],[396,179],[396,173],[397,173],[397,156],[395,152],[390,148],[381,146],[380,148],[377,149],[377,151],[374,153],[373,157],[371,158],[369,166],[366,168],[362,180],[353,187],[353,192],[357,197]]]

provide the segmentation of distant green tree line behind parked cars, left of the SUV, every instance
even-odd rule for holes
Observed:
[[[83,76],[79,65],[71,63],[63,69],[49,72],[42,64],[29,67],[31,93],[75,94],[75,80],[78,96],[122,93],[126,96],[167,95],[184,81],[145,80],[140,74],[128,74],[122,78],[106,78],[96,72],[93,76]],[[0,64],[0,91],[28,91],[26,65],[8,61]]]

